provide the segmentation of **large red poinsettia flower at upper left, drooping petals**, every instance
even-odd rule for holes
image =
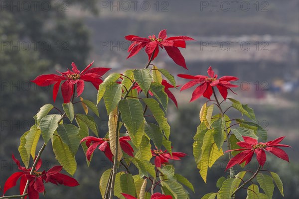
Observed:
[[[77,84],[77,96],[80,96],[84,90],[84,81],[91,82],[93,86],[98,90],[99,85],[103,82],[101,80],[102,76],[110,70],[110,68],[91,68],[89,69],[94,62],[90,63],[81,73],[77,69],[75,63],[72,63],[72,70],[66,72],[59,72],[61,75],[56,74],[48,74],[48,75],[40,75],[36,77],[32,82],[37,84],[38,86],[45,87],[54,84],[53,89],[53,100],[56,100],[56,96],[59,90],[60,83],[66,80],[61,85],[61,93],[63,97],[64,103],[70,102],[73,92],[74,85]]]

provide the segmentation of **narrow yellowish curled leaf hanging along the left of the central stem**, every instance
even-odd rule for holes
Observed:
[[[116,139],[117,134],[118,134],[118,137],[120,134],[119,129],[118,129],[118,132],[116,132],[117,131],[117,119],[118,119],[117,117],[118,117],[118,111],[117,111],[117,108],[115,108],[109,114],[109,120],[108,120],[109,139],[110,139],[109,144],[110,144],[110,149],[111,149],[112,154],[115,155],[116,142],[117,142],[117,145],[118,145],[117,159],[118,159],[118,161],[121,161],[121,159],[123,157],[123,152],[122,152],[122,148],[121,148],[119,140]]]

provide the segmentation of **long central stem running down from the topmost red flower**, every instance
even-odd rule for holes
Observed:
[[[154,50],[155,51],[155,50]],[[149,59],[149,62],[147,63],[147,65],[145,66],[145,69],[147,69],[149,67],[149,64],[153,58],[154,55],[154,51],[151,54],[151,57]],[[128,89],[127,93],[125,94],[124,98],[122,100],[126,100],[126,98],[128,97],[129,93],[131,92],[131,90],[133,89],[133,87],[135,86],[136,81],[134,80],[134,82],[132,83],[131,87]],[[111,180],[111,185],[110,185],[110,195],[109,195],[109,199],[112,199],[114,196],[114,184],[115,184],[115,177],[116,177],[116,173],[117,173],[117,162],[118,162],[118,142],[119,142],[119,126],[120,126],[120,117],[121,117],[121,112],[118,111],[118,116],[117,116],[117,123],[116,123],[116,140],[115,140],[115,150],[114,150],[114,161],[113,161],[113,172],[112,172],[112,180]]]

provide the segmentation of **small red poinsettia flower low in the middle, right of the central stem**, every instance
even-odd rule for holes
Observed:
[[[167,150],[162,151],[158,149],[151,150],[151,155],[155,157],[154,165],[156,167],[161,167],[161,164],[168,163],[170,160],[180,160],[180,158],[185,157],[187,154],[181,152],[172,152],[172,157],[170,153],[166,153]]]

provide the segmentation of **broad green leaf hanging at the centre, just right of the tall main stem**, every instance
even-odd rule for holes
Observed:
[[[128,131],[135,135],[140,126],[144,123],[143,108],[139,100],[121,100],[119,110],[122,114],[122,121],[128,127]]]

